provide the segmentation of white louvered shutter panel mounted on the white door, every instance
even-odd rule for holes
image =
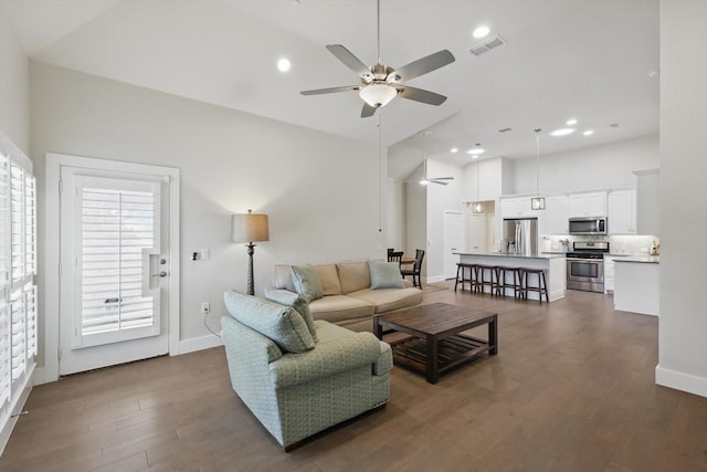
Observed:
[[[74,347],[159,334],[159,297],[144,292],[145,251],[157,247],[157,187],[80,178],[81,321]]]

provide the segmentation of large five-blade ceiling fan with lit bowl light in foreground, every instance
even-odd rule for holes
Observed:
[[[348,49],[341,44],[327,44],[327,49],[339,61],[359,75],[360,85],[346,85],[341,87],[318,88],[300,92],[303,95],[320,95],[337,92],[358,92],[363,99],[361,118],[372,116],[377,108],[386,106],[395,96],[412,99],[428,105],[442,105],[446,97],[434,92],[404,85],[403,82],[420,75],[444,67],[454,62],[454,55],[447,51],[437,51],[434,54],[411,62],[395,70],[380,61],[380,0],[378,4],[378,63],[370,67],[363,64]]]

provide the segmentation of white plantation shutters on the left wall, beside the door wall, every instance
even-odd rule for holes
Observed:
[[[32,162],[0,134],[0,424],[36,355],[35,192]]]

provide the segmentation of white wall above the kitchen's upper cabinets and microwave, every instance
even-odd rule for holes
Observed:
[[[511,192],[535,192],[537,160],[516,159],[513,162]],[[540,155],[540,192],[632,186],[636,183],[633,170],[658,167],[661,165],[657,135],[585,147],[570,153]]]

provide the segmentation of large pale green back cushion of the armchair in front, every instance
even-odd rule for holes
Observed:
[[[223,301],[231,316],[274,340],[286,353],[305,353],[314,348],[307,324],[292,306],[229,291]]]

